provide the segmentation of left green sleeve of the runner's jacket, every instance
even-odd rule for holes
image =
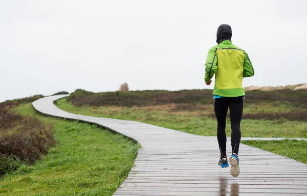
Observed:
[[[216,72],[216,64],[217,64],[217,57],[215,53],[215,48],[210,48],[208,55],[207,55],[207,60],[205,63],[205,82],[208,82]]]

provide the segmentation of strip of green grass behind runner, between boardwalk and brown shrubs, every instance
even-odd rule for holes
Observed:
[[[75,107],[66,98],[57,101],[57,106],[74,114],[95,117],[133,120],[180,130],[196,135],[216,135],[216,120],[203,117],[202,113],[211,112],[213,106],[206,105],[203,111],[171,111],[172,105],[147,107],[118,106],[81,106]],[[276,109],[275,109],[276,110]],[[307,138],[307,122],[287,121],[284,119],[243,120],[243,137],[303,137]],[[227,119],[226,133],[230,136],[230,120]]]

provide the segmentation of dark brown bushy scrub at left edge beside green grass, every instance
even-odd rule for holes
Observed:
[[[16,170],[22,163],[34,163],[55,144],[51,125],[10,113],[9,109],[18,104],[0,104],[0,175]]]

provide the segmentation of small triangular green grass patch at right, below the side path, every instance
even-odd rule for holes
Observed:
[[[307,141],[284,139],[282,141],[243,141],[242,143],[307,164]]]

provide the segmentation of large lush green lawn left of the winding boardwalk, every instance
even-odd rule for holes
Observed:
[[[34,165],[0,178],[0,195],[112,195],[124,181],[138,145],[85,123],[43,117],[31,104],[13,109],[52,123],[56,147]]]

